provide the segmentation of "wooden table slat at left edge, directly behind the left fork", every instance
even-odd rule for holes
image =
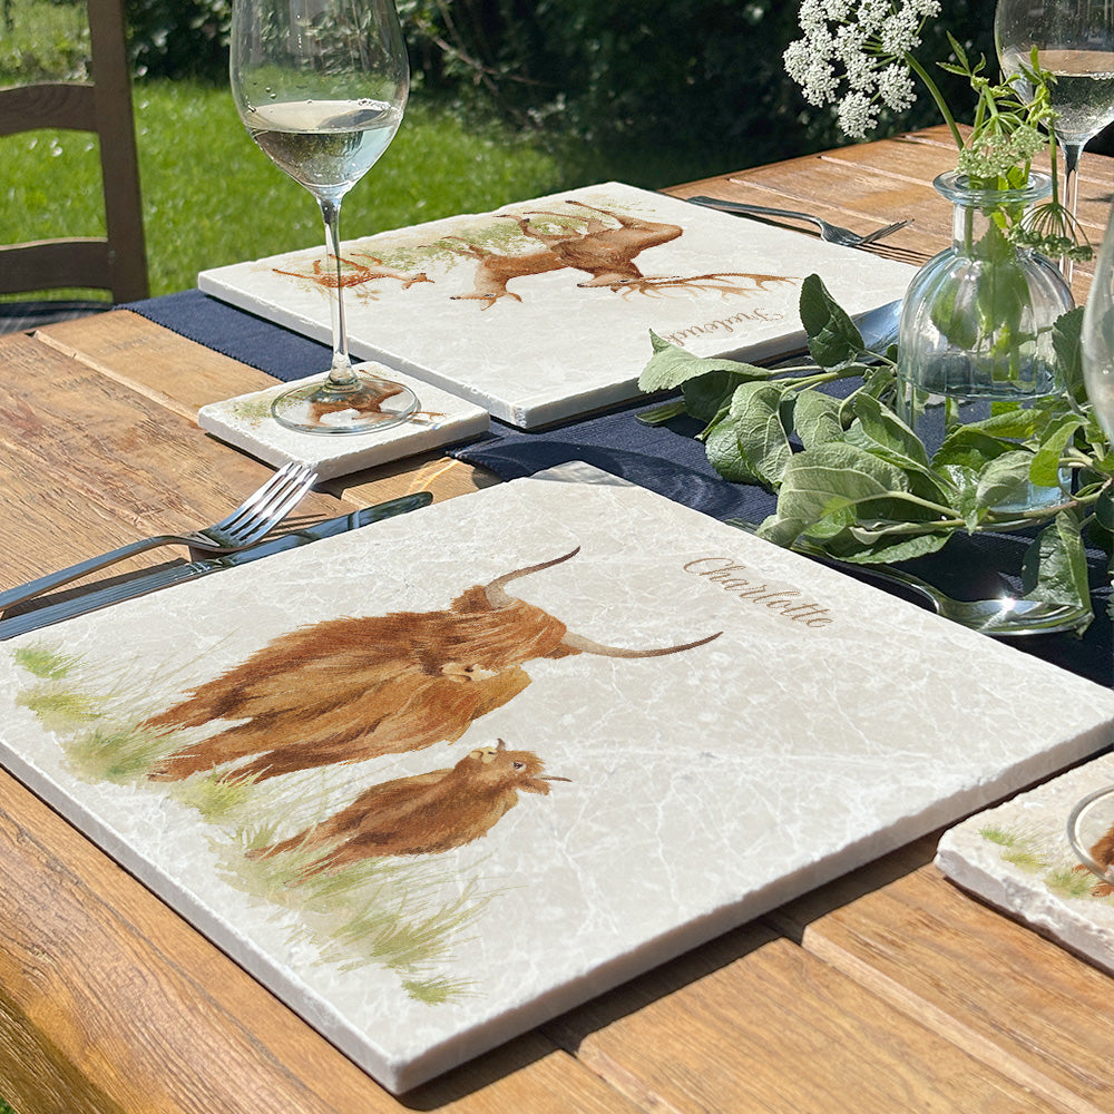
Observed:
[[[8,536],[0,587],[128,540],[207,526],[273,472],[243,453],[214,455],[194,422],[153,409],[149,398],[35,338],[8,338],[3,351],[0,491]],[[313,492],[287,525],[353,508]],[[185,554],[157,551],[114,571]]]

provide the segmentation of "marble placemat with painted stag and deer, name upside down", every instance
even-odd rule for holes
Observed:
[[[852,315],[915,267],[618,183],[346,242],[352,352],[535,428],[637,394],[653,330],[697,355],[801,348],[801,282]],[[205,271],[206,293],[317,340],[323,248]],[[312,369],[307,369],[307,372]]]

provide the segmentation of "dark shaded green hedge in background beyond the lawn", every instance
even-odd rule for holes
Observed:
[[[232,0],[127,0],[137,74],[225,80]],[[744,165],[840,144],[830,113],[785,78],[792,0],[398,0],[416,88],[496,106],[589,143],[716,153]],[[993,4],[944,0],[924,57],[949,28],[993,55]],[[947,84],[950,80],[942,75]],[[967,104],[966,90],[951,99]],[[938,123],[921,97],[880,130]]]

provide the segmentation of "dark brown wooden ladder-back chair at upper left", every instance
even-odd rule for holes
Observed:
[[[111,302],[2,302],[0,333],[110,309],[113,303],[148,295],[123,0],[87,2],[91,80],[0,89],[0,136],[38,128],[96,134],[107,236],[0,247],[0,294],[105,290]]]

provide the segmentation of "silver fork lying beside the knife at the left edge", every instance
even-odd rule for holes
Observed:
[[[0,592],[0,610],[159,546],[184,545],[209,554],[231,554],[237,549],[246,549],[286,517],[316,478],[317,473],[309,465],[283,465],[258,491],[250,495],[219,522],[186,534],[159,534],[139,541],[129,541],[119,549]]]

